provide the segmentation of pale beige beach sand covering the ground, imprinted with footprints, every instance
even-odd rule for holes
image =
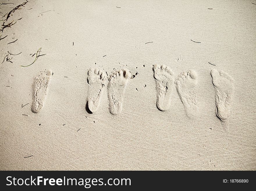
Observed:
[[[0,169],[256,170],[252,2],[3,1]]]

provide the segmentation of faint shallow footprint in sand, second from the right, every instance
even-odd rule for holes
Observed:
[[[197,84],[197,74],[194,70],[182,72],[175,80],[179,98],[182,101],[188,117],[194,117],[198,111],[196,103],[195,86]]]

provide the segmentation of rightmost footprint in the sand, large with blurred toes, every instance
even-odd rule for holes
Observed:
[[[225,120],[230,117],[233,95],[233,79],[225,72],[211,71],[212,83],[215,88],[216,115]]]

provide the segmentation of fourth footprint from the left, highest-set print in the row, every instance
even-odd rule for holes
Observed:
[[[170,107],[173,73],[166,65],[154,65],[153,70],[157,89],[157,108],[166,111]]]

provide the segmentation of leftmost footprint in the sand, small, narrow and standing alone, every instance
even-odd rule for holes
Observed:
[[[52,75],[53,73],[51,70],[45,70],[41,71],[34,79],[34,83],[32,85],[33,98],[31,105],[31,110],[34,113],[40,112],[44,106],[45,97]]]

